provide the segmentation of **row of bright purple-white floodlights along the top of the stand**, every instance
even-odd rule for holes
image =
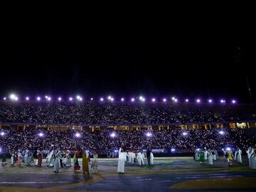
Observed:
[[[18,101],[18,96],[16,96],[15,94],[11,94],[11,95],[9,96],[9,99],[10,99],[10,100],[14,100],[14,101]],[[7,100],[7,97],[4,97],[4,100]],[[30,97],[25,97],[25,100],[26,100],[26,101],[30,100]],[[41,100],[43,100],[43,97],[38,96],[38,97],[36,97],[36,100],[37,100],[37,101],[41,101]],[[52,97],[46,95],[46,96],[45,96],[45,100],[48,101],[48,102],[50,102],[50,101],[52,100]],[[59,102],[61,102],[62,100],[63,100],[62,97],[58,97],[58,101],[59,101]],[[81,102],[81,101],[82,101],[82,97],[81,97],[80,95],[77,95],[76,97],[68,97],[68,100],[69,100],[70,102],[72,102],[73,100],[77,100],[77,101],[80,101],[80,102]],[[91,98],[90,98],[90,101],[93,101],[93,100],[94,100],[94,98],[91,97]],[[109,102],[114,102],[114,97],[112,97],[112,96],[100,97],[100,99],[99,99],[100,102],[105,102],[105,100],[107,100],[107,101],[109,101]],[[124,101],[125,101],[124,97],[120,98],[120,101],[121,101],[121,102],[124,102]],[[143,97],[143,96],[139,96],[139,97],[132,97],[132,98],[130,99],[130,102],[135,102],[135,101],[145,102],[145,101],[146,101],[146,98]],[[176,97],[171,97],[171,100],[168,100],[167,98],[163,98],[161,101],[162,101],[162,102],[168,102],[168,101],[179,102],[180,100],[178,100],[178,98],[176,98]],[[196,101],[197,103],[201,103],[201,102],[202,102],[202,100],[201,100],[200,98],[196,99],[195,101]],[[155,97],[151,98],[151,102],[157,102],[156,98],[155,98]],[[187,98],[187,99],[184,100],[184,102],[190,102],[190,101],[189,101],[189,99]],[[225,102],[226,102],[226,100],[223,100],[223,99],[220,100],[220,103],[222,103],[222,104],[225,104]],[[236,100],[231,100],[230,102],[233,103],[233,104],[235,104],[237,101],[236,101]],[[212,99],[209,99],[209,100],[208,100],[208,103],[213,103],[213,100],[212,100]]]

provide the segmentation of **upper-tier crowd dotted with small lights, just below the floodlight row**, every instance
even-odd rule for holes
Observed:
[[[201,106],[201,107],[198,107]],[[26,124],[185,124],[256,119],[223,108],[194,105],[174,107],[169,103],[111,102],[1,102],[0,122]]]

